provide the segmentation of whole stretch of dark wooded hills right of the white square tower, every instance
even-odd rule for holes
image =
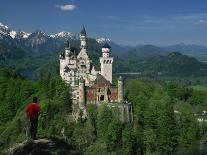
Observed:
[[[118,73],[139,73],[155,76],[206,76],[207,64],[187,55],[172,52],[165,56],[148,58],[118,58],[114,65]]]

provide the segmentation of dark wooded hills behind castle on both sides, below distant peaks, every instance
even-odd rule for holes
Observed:
[[[17,72],[29,79],[41,79],[49,74],[59,74],[59,54],[63,46],[53,54],[31,55],[23,50],[2,43],[0,47],[0,64],[13,67]],[[73,49],[79,51],[79,41],[72,41]],[[88,54],[95,67],[99,67],[101,45],[94,39],[88,39]],[[142,54],[141,54],[142,53]],[[146,55],[147,53],[147,55]],[[77,52],[78,54],[78,52]],[[195,58],[182,55],[178,52],[165,53],[160,48],[148,45],[138,51],[132,51],[125,56],[117,56],[112,49],[114,57],[113,72],[140,72],[143,75],[164,76],[204,76],[207,65]],[[47,60],[47,61],[45,61]]]

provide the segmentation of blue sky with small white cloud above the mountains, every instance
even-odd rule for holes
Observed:
[[[107,37],[118,44],[207,46],[207,0],[0,0],[14,30]]]

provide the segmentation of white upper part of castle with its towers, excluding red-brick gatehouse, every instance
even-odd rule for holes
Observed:
[[[112,64],[113,57],[110,57],[111,47],[106,43],[102,47],[102,57],[100,57],[101,70],[96,71],[91,66],[91,60],[87,50],[87,35],[83,27],[80,33],[80,52],[76,56],[76,52],[71,50],[70,43],[65,48],[65,54],[60,56],[60,76],[72,87],[78,85],[78,80],[82,77],[85,85],[90,86],[96,78],[97,74],[101,74],[106,80],[112,83]]]

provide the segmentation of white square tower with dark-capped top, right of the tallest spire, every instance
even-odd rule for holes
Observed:
[[[113,57],[109,56],[111,47],[108,43],[102,47],[102,57],[100,57],[101,63],[101,75],[105,77],[106,80],[112,83],[112,64]]]

